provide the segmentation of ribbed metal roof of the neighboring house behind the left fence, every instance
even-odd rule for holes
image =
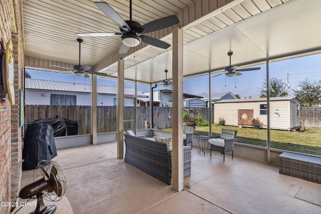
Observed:
[[[50,91],[71,91],[71,92],[91,92],[90,84],[58,82],[51,80],[38,80],[25,78],[26,89],[50,90]],[[97,85],[98,94],[117,94],[117,87]],[[134,96],[135,89],[125,88],[125,95]],[[148,97],[140,91],[137,91],[137,97]]]

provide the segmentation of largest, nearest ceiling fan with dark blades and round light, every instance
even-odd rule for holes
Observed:
[[[95,2],[95,5],[116,25],[119,26],[120,33],[79,33],[80,37],[110,37],[121,36],[122,44],[119,49],[119,54],[125,54],[130,47],[139,45],[140,42],[147,43],[158,48],[167,49],[171,45],[152,37],[143,36],[149,32],[158,31],[164,28],[171,27],[180,23],[179,19],[173,15],[149,22],[141,26],[138,22],[131,20],[131,0],[129,1],[129,20],[124,21],[114,9],[105,2]]]

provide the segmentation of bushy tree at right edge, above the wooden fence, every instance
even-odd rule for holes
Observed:
[[[301,101],[302,106],[315,106],[320,103],[321,80],[316,82],[305,79],[299,83],[298,89],[293,89],[295,96]]]

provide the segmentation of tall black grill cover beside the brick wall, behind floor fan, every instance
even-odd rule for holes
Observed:
[[[23,170],[35,169],[42,160],[51,160],[57,156],[53,128],[45,123],[33,123],[25,132],[22,150]]]

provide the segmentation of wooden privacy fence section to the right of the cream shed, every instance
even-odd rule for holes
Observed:
[[[321,127],[321,108],[301,107],[301,123],[305,127]]]

